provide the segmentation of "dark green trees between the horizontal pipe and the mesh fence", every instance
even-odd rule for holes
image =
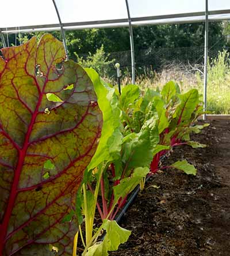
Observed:
[[[230,46],[229,21],[209,23],[210,46]],[[52,32],[60,39],[60,32]],[[21,41],[32,36],[40,37],[43,32],[25,33]],[[135,51],[143,48],[190,47],[204,44],[204,23],[148,25],[133,28]],[[105,52],[130,50],[128,28],[84,29],[66,32],[70,58],[76,60],[76,54],[94,54],[104,45]],[[15,35],[9,35],[10,45],[15,44]],[[19,39],[18,42],[19,44]]]

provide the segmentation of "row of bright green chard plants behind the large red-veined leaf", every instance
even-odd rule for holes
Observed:
[[[162,91],[142,92],[137,85],[127,85],[119,95],[93,69],[86,72],[93,81],[104,125],[98,149],[78,191],[76,213],[85,247],[82,255],[108,255],[131,234],[115,219],[137,185],[143,190],[148,175],[166,168],[196,175],[196,168],[186,160],[162,166],[160,159],[175,146],[204,147],[191,141],[190,134],[199,133],[206,125],[194,125],[203,114],[196,89],[181,94],[179,86],[170,81]],[[102,224],[93,230],[96,210]],[[81,225],[85,226],[85,237]],[[104,240],[97,242],[103,230]]]

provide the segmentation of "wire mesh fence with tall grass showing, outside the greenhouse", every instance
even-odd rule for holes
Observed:
[[[107,56],[108,53],[105,54]],[[87,55],[82,55],[86,58]],[[208,51],[207,109],[212,114],[230,114],[230,48],[212,46]],[[120,63],[122,86],[131,83],[131,51],[110,52],[102,77],[116,84],[114,64]],[[135,52],[136,83],[156,88],[175,80],[183,92],[204,91],[204,47],[150,48]]]

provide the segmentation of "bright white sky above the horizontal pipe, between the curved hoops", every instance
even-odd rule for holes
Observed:
[[[128,0],[131,17],[202,12],[205,0]],[[0,0],[0,28],[58,24],[52,0]],[[125,0],[56,0],[62,22],[127,18]],[[209,10],[230,9],[230,0],[209,0]]]

